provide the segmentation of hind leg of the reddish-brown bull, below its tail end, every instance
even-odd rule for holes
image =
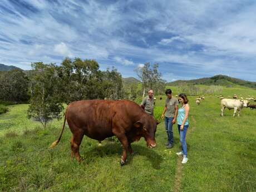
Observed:
[[[79,146],[83,139],[83,131],[77,130],[75,133],[73,133],[72,139],[71,139],[71,157],[75,156],[76,160],[80,163],[81,156],[79,153]]]

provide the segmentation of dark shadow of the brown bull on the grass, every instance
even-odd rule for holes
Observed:
[[[132,161],[134,156],[140,155],[147,157],[147,160],[150,161],[152,167],[154,169],[160,169],[160,164],[163,161],[161,155],[157,154],[155,149],[150,149],[148,147],[140,146],[140,145],[132,145],[132,149],[134,150],[134,154],[130,155],[127,152],[127,162],[126,165],[132,165]],[[109,142],[104,146],[95,146],[91,147],[90,150],[81,153],[82,159],[86,164],[90,164],[93,161],[97,161],[99,157],[110,157],[116,156],[119,158],[122,154],[121,145],[118,142]]]

